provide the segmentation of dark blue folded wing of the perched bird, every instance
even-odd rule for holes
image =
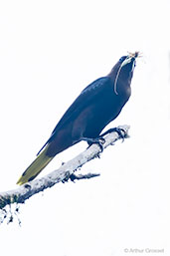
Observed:
[[[44,146],[40,149],[38,154],[41,152],[41,150],[51,141],[55,133],[62,128],[70,119],[72,119],[74,116],[77,116],[82,110],[84,110],[85,106],[87,106],[91,101],[95,101],[98,94],[102,92],[103,89],[106,89],[106,87],[109,87],[111,83],[110,78],[103,77],[95,80],[90,85],[88,85],[81,95],[75,100],[75,102],[71,105],[71,107],[68,109],[68,111],[64,114],[62,119],[59,121],[56,128],[54,128],[50,138],[47,140],[47,142],[44,144]]]

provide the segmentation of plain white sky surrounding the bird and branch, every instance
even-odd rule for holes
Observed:
[[[82,173],[100,177],[58,184],[22,205],[22,227],[0,226],[4,255],[170,255],[169,3],[0,1],[1,190],[16,187],[85,86],[127,51],[144,56],[130,101],[109,126],[130,125],[131,137],[85,164]],[[42,175],[85,146],[58,155]]]

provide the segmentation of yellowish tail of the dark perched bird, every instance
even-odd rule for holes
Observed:
[[[46,154],[48,146],[37,156],[37,158],[28,166],[23,172],[22,176],[17,181],[17,184],[22,185],[28,181],[33,180],[46,165],[53,159]]]

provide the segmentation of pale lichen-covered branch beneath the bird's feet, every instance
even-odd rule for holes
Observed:
[[[123,137],[128,137],[128,126],[121,126],[118,127],[118,129],[121,131],[113,131],[103,136],[104,142],[103,142],[103,149],[107,147],[110,144],[113,144],[117,139],[120,139]],[[59,169],[54,170],[50,174],[35,179],[33,181],[30,181],[22,186],[19,186],[16,189],[9,190],[6,192],[0,193],[0,209],[3,209],[6,205],[12,204],[12,203],[24,203],[25,200],[30,198],[32,195],[39,193],[46,188],[52,187],[56,183],[59,183],[61,181],[67,181],[69,178],[71,180],[75,179],[83,179],[83,178],[91,178],[94,176],[97,176],[99,174],[92,174],[88,173],[85,175],[75,175],[74,172],[82,167],[85,162],[93,159],[94,157],[98,156],[98,154],[101,152],[101,148],[97,144],[90,145],[84,152],[77,155],[72,160],[64,163]],[[73,175],[74,174],[74,175]]]

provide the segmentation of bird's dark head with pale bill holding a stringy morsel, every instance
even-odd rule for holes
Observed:
[[[136,66],[136,58],[140,57],[139,52],[128,53],[126,56],[122,56],[118,62],[112,68],[108,76],[114,80],[114,93],[118,95],[118,83],[128,83],[130,86],[133,71]]]

